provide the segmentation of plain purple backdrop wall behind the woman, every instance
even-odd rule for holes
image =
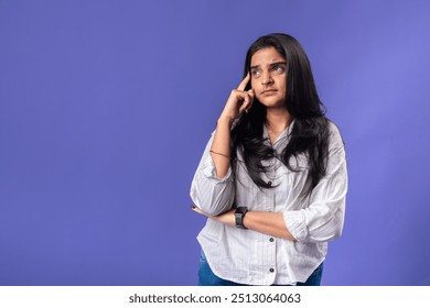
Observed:
[[[353,3],[354,2],[354,3]],[[430,285],[428,1],[0,1],[0,285],[194,285],[189,189],[287,32],[348,155],[324,285]]]

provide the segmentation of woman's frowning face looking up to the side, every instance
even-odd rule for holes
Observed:
[[[251,56],[251,87],[257,99],[267,108],[286,105],[287,61],[275,47],[259,50]]]

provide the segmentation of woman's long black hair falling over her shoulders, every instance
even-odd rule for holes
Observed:
[[[286,108],[293,119],[290,141],[279,160],[292,172],[300,172],[291,158],[304,154],[308,160],[309,177],[303,196],[308,196],[326,173],[329,152],[329,119],[320,100],[313,79],[311,65],[300,43],[283,33],[272,33],[259,37],[248,50],[245,59],[244,77],[250,70],[252,55],[267,47],[275,47],[287,61],[287,95]],[[250,81],[246,89],[250,89]],[[275,150],[264,139],[266,123],[266,107],[254,99],[252,108],[244,114],[232,131],[232,154],[241,153],[245,166],[252,182],[260,188],[272,188],[261,178],[268,167],[262,161],[277,157]],[[236,170],[237,160],[233,160],[233,170]]]

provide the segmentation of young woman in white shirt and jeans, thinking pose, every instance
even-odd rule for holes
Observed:
[[[347,173],[299,42],[273,33],[248,50],[191,186],[208,218],[200,285],[320,285],[341,235]]]

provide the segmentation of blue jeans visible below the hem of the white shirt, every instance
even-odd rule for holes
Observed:
[[[298,286],[319,286],[323,273],[323,263],[321,263],[312,275],[304,283],[297,283]],[[230,280],[219,278],[212,272],[206,256],[202,251],[198,262],[198,285],[200,286],[246,286]]]

